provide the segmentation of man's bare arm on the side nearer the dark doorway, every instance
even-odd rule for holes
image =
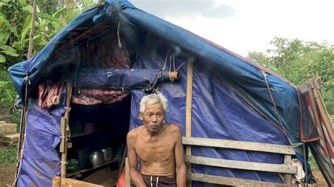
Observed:
[[[130,131],[128,133],[128,136],[126,136],[126,141],[128,145],[130,179],[133,183],[135,183],[135,186],[146,187],[144,179],[142,179],[142,175],[137,170],[137,153],[135,151],[135,147],[133,146],[136,141],[136,134],[134,131]]]

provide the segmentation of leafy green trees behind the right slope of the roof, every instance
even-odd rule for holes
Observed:
[[[266,53],[252,51],[247,58],[299,85],[320,77],[323,100],[330,115],[334,115],[334,50],[326,41],[301,41],[274,38],[273,49]]]

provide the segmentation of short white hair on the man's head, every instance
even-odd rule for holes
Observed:
[[[166,114],[167,112],[167,98],[163,96],[162,93],[151,93],[147,96],[144,96],[142,98],[142,101],[140,101],[140,112],[143,113],[146,108],[146,104],[148,105],[154,105],[156,103],[161,103],[163,112]]]

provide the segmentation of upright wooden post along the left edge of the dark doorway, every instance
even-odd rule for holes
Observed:
[[[68,132],[70,130],[70,98],[72,96],[72,86],[66,82],[66,108],[65,115],[61,118],[61,178],[66,178],[66,162],[67,162],[67,148],[68,148]]]

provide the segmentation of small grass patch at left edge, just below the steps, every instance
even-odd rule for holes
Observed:
[[[15,166],[17,149],[17,146],[0,146],[0,166]]]

